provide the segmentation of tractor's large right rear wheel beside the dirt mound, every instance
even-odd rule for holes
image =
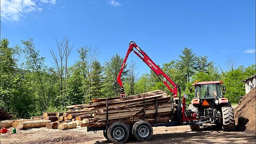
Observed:
[[[221,107],[222,111],[222,129],[224,131],[231,131],[235,128],[234,111],[230,105]]]

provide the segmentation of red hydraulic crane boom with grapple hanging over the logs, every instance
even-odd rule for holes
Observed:
[[[133,48],[135,48],[135,50],[133,50]],[[120,97],[126,97],[126,96],[125,96],[125,92],[124,92],[123,83],[122,83],[122,81],[121,81],[121,75],[122,75],[122,72],[123,72],[123,70],[124,70],[124,66],[125,66],[125,63],[126,63],[126,61],[127,61],[127,58],[128,58],[129,54],[130,54],[132,51],[133,51],[136,55],[138,55],[138,57],[139,57],[140,59],[142,59],[142,61],[145,62],[146,65],[147,65],[151,70],[153,70],[154,73],[155,73],[157,76],[159,76],[159,77],[162,79],[164,85],[172,92],[173,97],[174,97],[174,98],[177,98],[177,92],[178,92],[178,89],[177,89],[177,88],[178,88],[179,86],[178,86],[177,84],[175,84],[175,83],[172,81],[172,79],[171,79],[169,76],[167,76],[167,75],[164,73],[164,71],[163,71],[162,69],[160,69],[160,68],[156,65],[156,63],[155,63],[154,61],[152,61],[152,60],[148,57],[148,55],[147,55],[144,51],[142,51],[142,50],[140,49],[140,47],[139,47],[135,42],[133,42],[133,41],[131,41],[131,42],[129,43],[129,49],[128,49],[126,55],[125,55],[123,65],[122,65],[122,67],[121,67],[121,69],[120,69],[120,71],[119,71],[119,74],[118,74],[118,76],[117,76],[117,79],[116,79],[116,81],[115,81],[115,83],[114,83],[114,85],[115,85],[116,83],[118,83],[118,84],[121,86]],[[137,51],[138,51],[138,52],[137,52]],[[141,55],[140,55],[140,54],[141,54]],[[172,89],[172,88],[169,86],[169,84],[161,77],[161,75],[166,79],[167,82],[169,82],[169,83],[173,86],[173,89]],[[114,85],[113,85],[113,88],[114,88]]]

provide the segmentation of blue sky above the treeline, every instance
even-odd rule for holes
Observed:
[[[1,0],[1,38],[10,46],[33,38],[51,66],[55,37],[64,36],[74,44],[69,65],[81,46],[97,46],[103,64],[135,41],[158,65],[189,47],[224,70],[228,57],[247,67],[255,64],[255,1]],[[130,60],[140,75],[149,72],[135,54]]]

